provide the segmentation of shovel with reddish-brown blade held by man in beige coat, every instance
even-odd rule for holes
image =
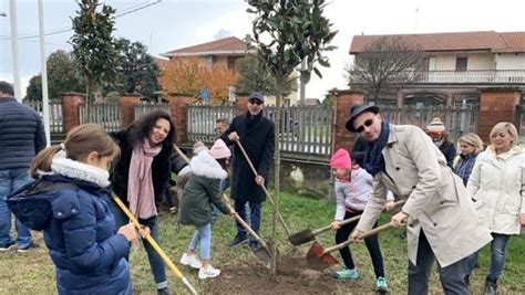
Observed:
[[[368,232],[364,232],[361,238],[362,239],[366,239],[366,238],[369,238],[371,235],[374,235],[381,231],[384,231],[387,229],[390,229],[392,228],[393,225],[389,222],[389,223],[385,223],[381,226],[378,226],[375,229],[372,229]],[[334,246],[331,246],[331,247],[327,247],[327,249],[322,249],[322,246],[319,244],[319,243],[313,243],[312,246],[310,247],[310,250],[308,251],[308,254],[307,254],[307,264],[308,264],[308,267],[312,268],[312,270],[317,270],[317,271],[322,271],[327,267],[330,267],[332,266],[333,264],[338,263],[337,260],[330,255],[330,252],[333,252],[336,250],[339,250],[341,247],[344,247],[344,246],[348,246],[349,244],[353,243],[353,240],[352,239],[348,239],[347,241],[340,243],[340,244],[337,244]]]

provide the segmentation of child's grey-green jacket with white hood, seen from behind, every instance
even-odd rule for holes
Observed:
[[[192,176],[184,188],[178,213],[182,224],[202,226],[212,222],[212,204],[220,212],[229,214],[229,208],[224,203],[220,179],[226,179],[228,173],[203,149],[189,162]]]

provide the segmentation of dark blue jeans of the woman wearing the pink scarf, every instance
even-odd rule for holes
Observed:
[[[119,230],[122,225],[130,223],[130,219],[126,214],[119,208],[119,206],[113,201],[107,199],[107,204],[111,212],[115,217],[115,228]],[[155,224],[153,229],[150,229],[150,234],[153,240],[158,243],[158,218],[155,219]],[[146,250],[147,259],[150,261],[150,267],[152,267],[153,278],[157,285],[157,288],[167,287],[166,280],[166,268],[164,266],[164,261],[161,255],[155,251],[155,249],[147,242],[145,239],[142,240],[144,249]],[[128,260],[128,257],[126,257]]]

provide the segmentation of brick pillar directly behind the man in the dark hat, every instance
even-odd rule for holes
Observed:
[[[332,92],[332,151],[344,148],[349,152],[353,148],[354,134],[347,130],[347,120],[350,118],[350,108],[354,104],[362,104],[364,94],[351,91]]]

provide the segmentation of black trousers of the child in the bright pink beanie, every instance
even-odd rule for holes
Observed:
[[[344,219],[349,219],[356,215],[361,214],[362,212],[348,212],[344,214]],[[346,225],[342,225],[339,230],[336,232],[336,243],[342,243],[348,240],[350,236],[350,233],[353,231],[353,229],[358,225],[358,221],[348,223]],[[378,222],[373,224],[373,228],[378,226]],[[384,266],[383,266],[383,255],[381,254],[381,249],[379,247],[379,240],[378,235],[372,235],[367,239],[364,239],[364,243],[367,244],[368,252],[370,253],[370,257],[372,259],[372,264],[373,264],[373,272],[375,273],[375,277],[384,277]],[[350,247],[346,246],[343,249],[339,250],[339,253],[341,254],[342,261],[344,262],[344,266],[347,268],[351,270],[356,267],[356,264],[353,263],[352,259],[352,253],[350,252]]]

